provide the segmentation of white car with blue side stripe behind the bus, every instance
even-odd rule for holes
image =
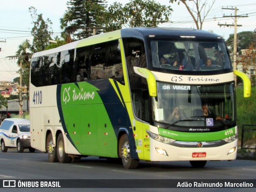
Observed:
[[[24,149],[34,152],[30,146],[30,120],[8,118],[0,126],[0,142],[2,152],[7,152],[8,148],[17,148],[19,153]]]

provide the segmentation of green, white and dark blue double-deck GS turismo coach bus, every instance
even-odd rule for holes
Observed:
[[[31,146],[50,162],[81,157],[234,160],[234,74],[224,39],[187,28],[126,28],[35,53]]]

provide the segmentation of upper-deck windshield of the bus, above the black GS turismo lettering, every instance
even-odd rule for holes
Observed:
[[[208,71],[230,69],[225,42],[150,40],[152,67]]]

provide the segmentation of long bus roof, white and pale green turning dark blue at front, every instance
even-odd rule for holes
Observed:
[[[56,52],[61,52],[69,49],[79,48],[83,46],[89,46],[96,43],[107,42],[111,40],[115,40],[118,38],[127,38],[134,37],[145,39],[147,37],[155,37],[155,38],[200,38],[200,39],[222,39],[221,36],[204,31],[204,30],[196,30],[191,28],[158,28],[158,27],[148,27],[148,28],[124,28],[121,30],[116,30],[113,32],[103,33],[95,36],[90,36],[89,38],[85,38],[82,40],[77,40],[75,42],[50,49],[42,52],[34,53],[32,57],[43,56],[47,54],[52,54]]]

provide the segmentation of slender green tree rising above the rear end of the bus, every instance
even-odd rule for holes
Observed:
[[[33,44],[31,47],[32,52],[39,52],[45,49],[48,40],[51,40],[52,35],[52,22],[49,18],[46,21],[43,19],[42,14],[37,14],[37,10],[34,7],[28,8],[31,13],[34,27],[32,28],[31,34],[33,38]]]

